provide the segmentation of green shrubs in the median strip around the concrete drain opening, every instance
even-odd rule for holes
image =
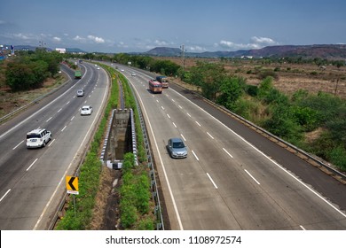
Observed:
[[[104,117],[91,143],[90,151],[81,167],[79,174],[80,192],[75,197],[76,209],[71,199],[65,215],[59,221],[56,229],[90,229],[102,169],[102,163],[99,161],[99,151],[103,144],[107,120],[118,104],[119,89],[117,81],[122,81],[125,105],[134,111],[139,165],[135,165],[135,158],[132,153],[129,152],[124,155],[122,180],[119,189],[119,195],[121,196],[119,205],[121,227],[119,229],[152,230],[156,227],[157,220],[153,214],[154,204],[151,195],[149,171],[145,165],[144,138],[140,127],[137,105],[131,93],[130,85],[122,74],[118,74],[110,66],[104,67],[113,79],[110,100],[106,105]],[[70,196],[70,198],[72,197]]]

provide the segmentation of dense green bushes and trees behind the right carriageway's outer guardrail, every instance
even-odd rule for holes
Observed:
[[[345,99],[304,89],[287,96],[273,87],[271,76],[248,85],[217,63],[198,62],[180,76],[198,86],[204,97],[346,171]],[[310,139],[311,132],[318,136]]]

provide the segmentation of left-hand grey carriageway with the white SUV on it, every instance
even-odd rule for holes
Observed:
[[[74,175],[99,115],[106,104],[106,71],[88,63],[83,77],[63,69],[70,80],[50,96],[0,126],[0,229],[47,229],[66,192],[66,175]],[[83,97],[76,97],[83,89]],[[90,116],[80,108],[91,105]],[[46,147],[27,149],[26,135],[35,128],[52,133]]]

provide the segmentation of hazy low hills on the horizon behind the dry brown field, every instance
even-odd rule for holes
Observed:
[[[178,48],[156,47],[148,50],[145,55],[161,57],[181,56]],[[236,51],[205,51],[205,52],[185,52],[186,57],[201,58],[240,58],[240,57],[303,57],[303,58],[328,58],[345,59],[346,44],[320,44],[320,45],[282,45],[267,46],[256,50],[236,50]]]

